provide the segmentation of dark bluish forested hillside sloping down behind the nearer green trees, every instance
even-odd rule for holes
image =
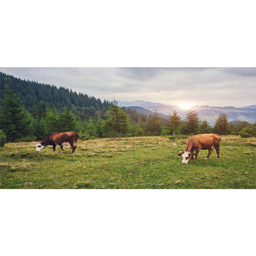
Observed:
[[[110,102],[96,99],[83,93],[76,93],[72,89],[55,85],[41,84],[37,81],[21,80],[11,75],[0,72],[1,99],[4,97],[4,84],[8,84],[13,93],[22,101],[29,113],[35,115],[38,103],[44,101],[50,108],[63,110],[65,106],[76,109],[81,117],[93,111],[108,108]],[[89,114],[90,115],[90,114]]]

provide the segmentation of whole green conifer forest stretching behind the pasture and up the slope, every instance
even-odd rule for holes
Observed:
[[[92,95],[0,73],[1,146],[5,142],[40,141],[52,132],[76,131],[84,139],[151,135],[218,133],[255,136],[255,124],[228,122],[220,113],[211,127],[192,107],[181,119],[175,110],[168,118],[157,109],[147,114],[119,106],[117,100]],[[151,114],[152,113],[152,114]]]

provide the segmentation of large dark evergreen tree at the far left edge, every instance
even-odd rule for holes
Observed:
[[[5,84],[4,98],[1,100],[1,130],[7,141],[34,140],[32,117],[12,92]]]

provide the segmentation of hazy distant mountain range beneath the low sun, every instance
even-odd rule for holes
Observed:
[[[180,108],[179,106],[165,105],[162,103],[135,100],[132,102],[120,101],[121,106],[126,108],[136,109],[137,112],[143,114],[149,114],[148,110],[152,111],[157,109],[157,112],[162,117],[168,118],[173,114],[173,110],[178,112],[179,116],[183,119],[188,112],[188,109]],[[209,124],[213,125],[220,113],[225,113],[229,121],[248,121],[249,123],[256,122],[256,105],[250,105],[247,107],[235,108],[235,107],[210,107],[210,106],[193,106],[198,113],[198,117],[203,121],[206,120]]]

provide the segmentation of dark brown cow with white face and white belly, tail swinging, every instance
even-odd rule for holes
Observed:
[[[60,148],[63,150],[63,146],[69,146],[70,149],[72,148],[72,153],[75,153],[76,150],[76,143],[78,137],[83,140],[77,132],[53,132],[49,134],[44,140],[39,143],[36,143],[36,151],[40,151],[45,146],[52,145],[53,151],[55,151],[56,145],[60,145]],[[84,140],[83,140],[84,141]],[[85,145],[87,143],[84,141]]]

